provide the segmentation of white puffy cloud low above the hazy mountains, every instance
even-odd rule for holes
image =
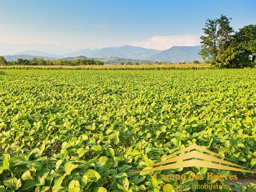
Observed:
[[[165,50],[169,49],[172,46],[195,46],[200,44],[200,35],[172,35],[172,36],[153,36],[148,38],[146,41],[135,41],[131,45]]]

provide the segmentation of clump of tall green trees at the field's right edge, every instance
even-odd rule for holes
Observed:
[[[201,36],[200,55],[206,63],[217,68],[243,68],[255,66],[256,25],[248,25],[237,32],[230,27],[231,18],[221,15],[206,20]]]

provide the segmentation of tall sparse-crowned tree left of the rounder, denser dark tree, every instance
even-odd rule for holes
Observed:
[[[200,37],[202,50],[199,54],[206,63],[218,68],[226,67],[235,57],[233,49],[228,49],[232,40],[232,32],[234,32],[230,27],[230,20],[231,18],[224,15],[221,15],[219,19],[206,20],[206,27],[203,28],[205,35]],[[231,52],[227,53],[227,51]]]

